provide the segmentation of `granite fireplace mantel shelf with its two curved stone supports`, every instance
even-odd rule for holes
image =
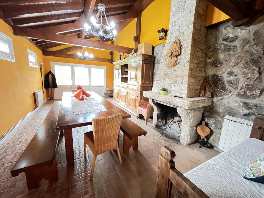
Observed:
[[[184,145],[195,142],[198,138],[196,126],[200,123],[204,106],[211,105],[212,98],[178,98],[171,95],[160,95],[154,91],[143,91],[143,96],[149,98],[152,104],[153,126],[159,127],[165,125],[168,108],[170,106],[177,109],[181,116],[181,138],[180,142]]]

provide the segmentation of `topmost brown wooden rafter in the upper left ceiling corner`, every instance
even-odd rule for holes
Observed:
[[[17,17],[20,15],[28,15],[28,14],[35,14],[35,13],[43,13],[43,12],[55,12],[55,11],[63,11],[63,10],[83,10],[84,6],[82,4],[79,5],[70,5],[70,6],[61,6],[60,3],[56,6],[50,6],[50,4],[39,4],[35,5],[34,9],[29,9],[28,6],[20,6],[19,9],[15,11],[5,11],[4,17],[5,18],[12,18]]]

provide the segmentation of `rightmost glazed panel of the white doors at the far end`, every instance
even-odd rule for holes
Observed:
[[[91,91],[103,96],[105,93],[105,68],[91,67]]]

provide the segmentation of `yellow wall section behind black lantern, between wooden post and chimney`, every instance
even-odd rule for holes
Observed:
[[[166,42],[166,37],[164,40],[158,39],[159,33],[157,31],[162,27],[169,29],[170,12],[170,0],[155,0],[142,12],[140,43],[150,43],[157,46]]]

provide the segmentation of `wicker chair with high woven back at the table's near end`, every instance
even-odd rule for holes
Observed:
[[[93,131],[84,133],[84,157],[86,158],[86,144],[93,152],[93,164],[90,178],[93,178],[96,156],[106,151],[113,149],[117,150],[120,164],[122,164],[117,143],[121,120],[122,113],[109,117],[93,118]]]

